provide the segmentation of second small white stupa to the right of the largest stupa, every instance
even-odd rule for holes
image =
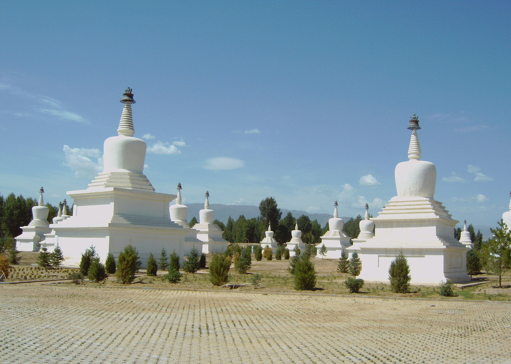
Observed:
[[[213,223],[215,211],[210,209],[210,192],[206,191],[205,196],[204,209],[199,211],[199,222],[192,229],[198,230],[197,239],[202,241],[202,253],[225,252],[229,243],[222,238],[220,227]]]

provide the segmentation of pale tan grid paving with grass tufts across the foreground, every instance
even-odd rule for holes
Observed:
[[[509,363],[511,304],[0,286],[2,363]]]

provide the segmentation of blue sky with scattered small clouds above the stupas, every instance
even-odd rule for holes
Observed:
[[[508,209],[511,3],[0,3],[0,193],[57,204],[102,169],[132,87],[145,173],[183,203],[376,215],[413,113],[435,199]]]

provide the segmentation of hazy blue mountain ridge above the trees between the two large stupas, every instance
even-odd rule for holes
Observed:
[[[199,211],[204,208],[204,203],[187,203],[187,206],[187,221],[190,221],[194,216],[197,220],[199,220]],[[224,224],[227,223],[229,216],[236,221],[240,215],[245,216],[247,219],[251,219],[252,217],[258,217],[260,214],[258,206],[225,205],[221,203],[212,203],[210,204],[210,209],[215,210],[215,218],[222,221]],[[326,225],[328,220],[332,217],[330,214],[309,214],[307,211],[299,210],[281,209],[281,211],[282,217],[286,216],[288,212],[291,212],[295,218],[298,218],[301,215],[309,216],[311,221],[318,220],[321,227]],[[350,217],[343,217],[342,219],[347,221],[350,219]]]

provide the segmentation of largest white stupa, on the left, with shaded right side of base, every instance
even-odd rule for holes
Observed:
[[[65,265],[78,265],[90,245],[104,261],[108,252],[117,258],[131,242],[143,267],[149,253],[157,254],[162,247],[183,256],[190,229],[170,220],[169,202],[176,195],[154,192],[144,175],[146,143],[133,137],[131,104],[135,101],[129,87],[123,96],[118,135],[104,143],[103,172],[86,190],[67,192],[74,199],[73,216],[52,224],[53,231],[47,235],[48,244],[60,245]]]

